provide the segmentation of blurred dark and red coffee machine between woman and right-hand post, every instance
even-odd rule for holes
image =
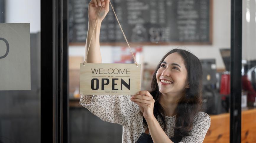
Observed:
[[[220,50],[225,71],[217,72],[215,59],[200,60],[203,70],[203,111],[208,114],[229,112],[230,49]]]

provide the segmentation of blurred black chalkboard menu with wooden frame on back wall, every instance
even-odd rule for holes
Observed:
[[[85,43],[90,0],[69,0],[69,42]],[[129,43],[211,44],[212,0],[112,0]],[[103,43],[125,42],[110,7]]]

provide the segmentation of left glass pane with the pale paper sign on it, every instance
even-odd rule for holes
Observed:
[[[0,0],[0,38],[0,142],[39,143],[40,0]]]

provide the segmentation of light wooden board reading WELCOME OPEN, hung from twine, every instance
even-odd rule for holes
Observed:
[[[140,91],[141,67],[135,64],[80,64],[80,94],[134,95]]]

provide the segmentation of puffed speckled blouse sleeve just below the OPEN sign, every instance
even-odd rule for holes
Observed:
[[[134,112],[130,95],[81,95],[80,104],[101,120],[123,125]]]

